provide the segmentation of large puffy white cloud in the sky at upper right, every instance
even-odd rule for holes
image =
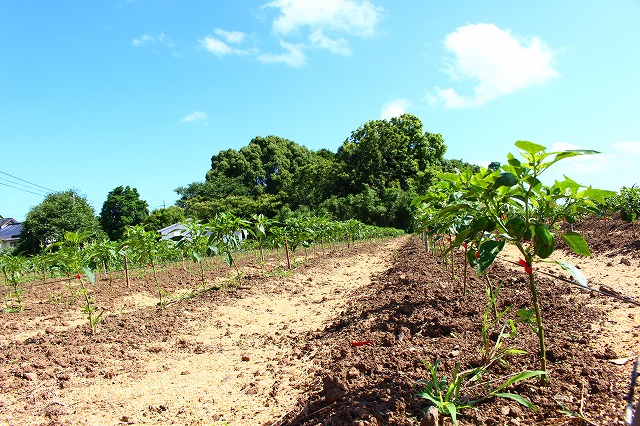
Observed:
[[[430,100],[446,108],[478,107],[559,75],[552,67],[555,52],[540,38],[523,38],[493,24],[460,27],[444,44],[454,54],[446,68],[451,79],[477,81],[472,95],[436,87]]]

